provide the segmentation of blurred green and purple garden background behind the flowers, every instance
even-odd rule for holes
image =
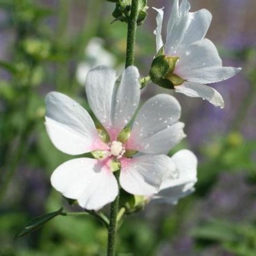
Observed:
[[[127,218],[118,255],[256,255],[256,2],[190,2],[192,11],[211,11],[207,38],[224,65],[243,70],[212,85],[224,97],[224,110],[174,94],[187,138],[170,154],[182,148],[196,153],[196,192],[176,206],[148,205]],[[136,39],[141,75],[155,54],[151,6],[165,6],[169,13],[172,1],[148,5]],[[53,170],[70,157],[46,135],[44,98],[50,91],[64,92],[88,109],[86,70],[96,64],[124,67],[126,24],[110,24],[114,8],[103,0],[0,0],[1,256],[105,255],[106,229],[92,216],[58,216],[31,235],[17,234],[33,217],[61,206],[80,210],[50,186]],[[163,92],[172,93],[149,84],[143,100]]]

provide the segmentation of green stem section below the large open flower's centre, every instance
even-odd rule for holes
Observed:
[[[118,182],[120,170],[113,173]],[[119,186],[119,182],[118,182]],[[107,243],[107,256],[115,256],[116,251],[116,233],[117,233],[117,215],[119,206],[119,192],[118,195],[110,205],[110,225],[108,226],[108,243]]]

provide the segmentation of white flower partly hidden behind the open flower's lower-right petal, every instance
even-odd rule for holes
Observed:
[[[151,197],[153,203],[176,204],[179,198],[195,191],[197,182],[197,158],[190,150],[178,151],[171,158],[177,165],[178,179],[165,179],[157,195]]]

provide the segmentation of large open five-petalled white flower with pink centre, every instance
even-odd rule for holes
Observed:
[[[184,138],[184,124],[178,122],[181,106],[174,97],[158,94],[146,101],[135,117],[129,139],[125,143],[117,140],[139,105],[138,79],[138,69],[132,66],[119,84],[111,68],[97,67],[87,75],[88,102],[110,136],[108,143],[101,140],[91,116],[77,102],[58,92],[46,96],[46,129],[56,148],[70,155],[105,152],[103,159],[69,160],[51,176],[53,187],[83,208],[98,210],[115,200],[118,186],[111,172],[112,160],[121,164],[120,186],[134,195],[157,193],[163,177],[177,172],[164,155]],[[129,150],[144,154],[126,158]]]

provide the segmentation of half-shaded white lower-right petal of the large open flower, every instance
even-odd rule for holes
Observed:
[[[120,185],[133,195],[157,193],[163,176],[168,170],[166,155],[143,155],[131,159],[120,159]]]

